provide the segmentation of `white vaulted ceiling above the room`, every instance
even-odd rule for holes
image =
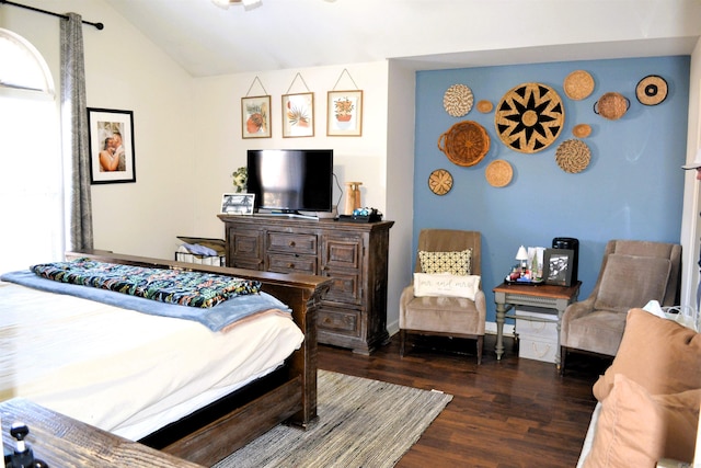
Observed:
[[[688,55],[701,34],[699,0],[105,1],[195,77],[383,59],[440,69]]]

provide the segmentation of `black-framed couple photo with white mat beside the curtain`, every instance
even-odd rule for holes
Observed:
[[[88,107],[93,184],[136,182],[134,112]]]

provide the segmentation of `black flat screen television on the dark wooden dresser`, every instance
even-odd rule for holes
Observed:
[[[248,171],[256,213],[333,210],[332,149],[250,149]]]

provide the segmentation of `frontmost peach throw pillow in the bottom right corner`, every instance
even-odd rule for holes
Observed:
[[[701,389],[650,395],[622,374],[601,402],[588,467],[654,467],[662,458],[690,463],[699,424]]]

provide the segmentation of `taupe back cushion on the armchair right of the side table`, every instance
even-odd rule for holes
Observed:
[[[610,254],[594,308],[625,312],[652,299],[662,303],[670,269],[669,259]]]

